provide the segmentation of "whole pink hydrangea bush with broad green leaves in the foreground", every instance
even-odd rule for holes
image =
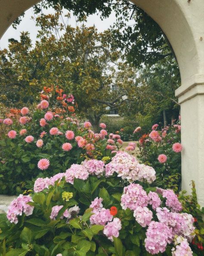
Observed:
[[[36,179],[0,214],[0,255],[196,255],[195,219],[173,190],[152,187],[155,175],[118,151]]]

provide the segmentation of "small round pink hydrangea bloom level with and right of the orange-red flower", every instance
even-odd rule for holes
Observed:
[[[138,206],[134,210],[133,216],[142,227],[146,227],[150,224],[153,213],[147,207]]]

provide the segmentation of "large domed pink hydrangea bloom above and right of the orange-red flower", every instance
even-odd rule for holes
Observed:
[[[148,195],[139,184],[131,183],[124,187],[124,193],[121,196],[121,206],[123,209],[130,208],[136,210],[138,206],[145,207],[148,205]]]

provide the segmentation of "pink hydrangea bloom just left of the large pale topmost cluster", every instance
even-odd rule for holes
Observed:
[[[86,168],[87,172],[90,174],[102,175],[104,172],[105,164],[102,160],[85,160],[83,161],[83,166]]]

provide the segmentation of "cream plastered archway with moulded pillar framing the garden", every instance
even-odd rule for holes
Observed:
[[[0,0],[0,37],[39,0]],[[167,35],[179,63],[182,85],[176,90],[182,116],[182,189],[195,180],[204,206],[204,1],[132,0]]]

